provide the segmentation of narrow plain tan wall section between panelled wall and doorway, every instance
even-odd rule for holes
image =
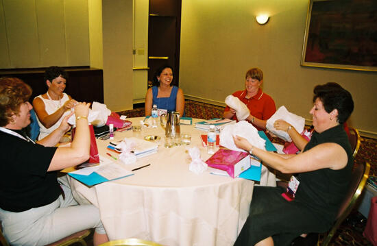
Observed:
[[[103,0],[102,27],[105,103],[132,109],[132,0]]]

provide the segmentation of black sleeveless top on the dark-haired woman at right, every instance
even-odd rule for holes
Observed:
[[[347,165],[343,169],[319,169],[300,173],[296,199],[312,208],[321,217],[332,223],[339,206],[344,199],[350,182],[353,167],[352,149],[343,125],[332,127],[321,134],[314,132],[304,151],[321,143],[336,143],[345,149],[348,156]]]

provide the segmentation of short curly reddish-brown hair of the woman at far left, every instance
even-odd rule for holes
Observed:
[[[8,125],[19,114],[21,103],[29,100],[32,88],[16,77],[0,77],[0,126]]]

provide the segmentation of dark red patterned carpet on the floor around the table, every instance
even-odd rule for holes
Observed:
[[[186,100],[184,112],[186,116],[199,119],[221,118],[223,116],[223,107],[214,106],[197,101]],[[134,110],[127,110],[119,112],[125,114],[127,117],[144,116],[144,108],[137,108]],[[272,139],[273,142],[280,140]],[[377,140],[373,138],[361,137],[361,145],[355,158],[356,163],[369,162],[371,170],[369,176],[377,175]],[[337,230],[337,234],[332,239],[330,245],[370,245],[363,236],[363,231],[367,219],[356,209],[343,221]],[[302,243],[302,245],[309,245]]]

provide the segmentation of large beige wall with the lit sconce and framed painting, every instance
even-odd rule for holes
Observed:
[[[308,1],[182,0],[180,87],[186,98],[222,104],[244,88],[247,69],[265,73],[264,90],[276,106],[311,119],[313,87],[337,82],[350,90],[349,123],[377,134],[377,73],[300,66]],[[267,12],[266,25],[256,14]]]

